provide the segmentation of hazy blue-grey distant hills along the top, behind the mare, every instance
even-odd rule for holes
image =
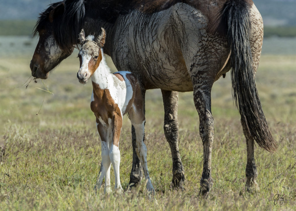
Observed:
[[[50,3],[58,0],[0,0],[0,20],[36,20]],[[296,0],[253,0],[265,26],[296,26]]]

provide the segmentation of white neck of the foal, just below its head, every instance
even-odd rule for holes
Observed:
[[[102,55],[102,60],[94,74],[91,76],[91,81],[98,84],[100,89],[108,89],[111,86],[112,73],[106,64],[102,49],[100,54]]]

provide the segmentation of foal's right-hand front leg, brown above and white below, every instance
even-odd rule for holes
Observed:
[[[110,146],[111,148],[110,148],[109,157],[110,157],[110,160],[114,169],[114,175],[115,175],[114,189],[121,192],[122,187],[120,184],[120,171],[119,171],[119,167],[120,167],[119,137],[120,137],[120,131],[122,127],[122,116],[119,109],[117,112],[114,112],[114,116],[110,126],[112,129],[112,133],[111,133],[112,143]]]

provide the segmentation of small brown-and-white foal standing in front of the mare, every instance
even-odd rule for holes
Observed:
[[[80,69],[77,73],[79,82],[85,84],[91,78],[93,93],[91,95],[91,110],[96,116],[96,125],[102,143],[102,166],[105,176],[104,193],[111,192],[110,166],[115,174],[115,190],[121,191],[119,176],[120,151],[119,136],[122,126],[122,117],[129,114],[136,132],[136,153],[143,166],[147,190],[154,194],[147,168],[147,148],[143,142],[145,115],[143,98],[137,78],[127,71],[110,73],[102,47],[105,43],[106,33],[98,37],[89,35],[85,38],[84,30],[79,34],[82,45],[78,57]],[[103,177],[99,177],[99,187]]]

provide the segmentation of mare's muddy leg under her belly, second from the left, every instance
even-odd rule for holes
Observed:
[[[178,146],[178,92],[165,90],[161,90],[161,92],[163,94],[163,105],[165,109],[163,128],[165,131],[165,138],[170,145],[170,151],[173,158],[172,187],[183,189],[185,176]]]

